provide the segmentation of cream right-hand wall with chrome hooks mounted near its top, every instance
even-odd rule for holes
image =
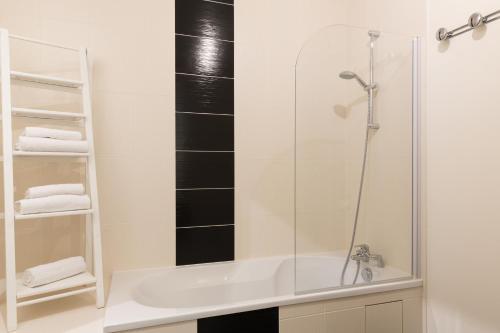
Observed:
[[[500,332],[500,22],[434,39],[500,3],[428,5],[428,332]]]

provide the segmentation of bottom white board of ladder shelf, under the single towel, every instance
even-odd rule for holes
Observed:
[[[83,287],[94,284],[95,282],[96,278],[92,274],[86,272],[43,286],[30,288],[23,284],[22,276],[19,276],[17,279],[17,298],[33,297],[65,289]]]

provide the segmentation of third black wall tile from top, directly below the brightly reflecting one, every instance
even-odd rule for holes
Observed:
[[[234,80],[177,74],[178,112],[234,114]]]

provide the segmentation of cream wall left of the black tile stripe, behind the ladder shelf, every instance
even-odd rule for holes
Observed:
[[[89,48],[107,278],[117,269],[175,263],[174,3],[0,2],[0,26],[11,33]],[[21,65],[31,66],[30,60],[40,61],[35,55],[14,51],[13,59],[22,57]],[[46,63],[54,59],[61,64],[60,57],[43,58],[50,60]],[[53,69],[50,66],[47,73]],[[38,70],[43,73],[47,68]],[[32,107],[50,108],[55,97],[24,99]],[[47,170],[55,171],[59,179],[67,172],[56,163],[45,171],[35,166],[27,169],[31,179],[17,179],[22,185],[16,197],[27,186],[44,184],[42,174]],[[17,224],[18,271],[81,254],[82,222],[72,218]]]

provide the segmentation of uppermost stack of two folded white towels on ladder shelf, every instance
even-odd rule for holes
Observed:
[[[16,149],[30,152],[87,153],[87,141],[78,131],[43,127],[26,127],[16,144]]]

